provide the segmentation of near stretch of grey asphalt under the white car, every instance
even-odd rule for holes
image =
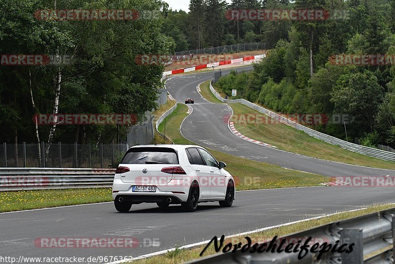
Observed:
[[[194,213],[180,206],[133,205],[127,214],[112,203],[0,214],[1,255],[25,257],[132,256],[209,240],[326,213],[395,202],[392,188],[311,187],[237,192],[231,208],[200,204]],[[134,237],[135,248],[40,248],[40,237]],[[144,243],[146,241],[146,243]],[[159,246],[151,246],[151,241]]]

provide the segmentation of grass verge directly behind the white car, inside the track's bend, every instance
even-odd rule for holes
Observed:
[[[178,104],[174,112],[166,118],[166,136],[175,144],[192,144],[180,133],[182,121],[188,116],[188,107]],[[158,128],[164,132],[164,122]],[[225,162],[226,170],[235,177],[237,190],[256,190],[283,187],[316,186],[328,182],[329,178],[315,174],[287,170],[262,162],[239,158],[219,151],[210,150],[214,157]]]

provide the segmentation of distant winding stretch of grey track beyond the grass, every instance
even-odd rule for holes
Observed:
[[[249,70],[251,66],[237,70]],[[223,75],[230,70],[222,71]],[[283,168],[310,172],[325,176],[383,176],[394,175],[395,171],[348,165],[315,159],[299,154],[260,146],[233,134],[224,116],[232,114],[226,104],[214,104],[204,100],[196,90],[201,82],[212,79],[212,72],[172,77],[166,82],[166,88],[179,102],[185,98],[195,99],[193,113],[187,117],[181,128],[182,134],[189,140],[218,151],[255,161],[278,165]]]

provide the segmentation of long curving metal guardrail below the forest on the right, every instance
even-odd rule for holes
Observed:
[[[214,89],[214,87],[212,86],[212,82],[210,82],[210,90],[211,92],[214,94],[215,97],[217,97],[220,101],[222,102],[226,102],[226,103],[241,103],[244,104],[260,113],[263,113],[275,120],[277,120],[278,122],[285,124],[287,126],[293,127],[297,130],[303,131],[305,133],[307,133],[310,136],[313,136],[317,139],[320,139],[324,142],[330,143],[332,145],[337,145],[340,146],[344,149],[359,153],[359,154],[363,154],[369,157],[373,157],[373,158],[378,158],[378,159],[382,159],[382,160],[388,160],[388,161],[395,161],[395,153],[392,152],[388,152],[388,151],[384,151],[384,150],[380,150],[380,149],[376,149],[376,148],[371,148],[371,147],[365,147],[365,146],[361,146],[361,145],[357,145],[351,142],[347,142],[345,140],[336,138],[334,136],[331,135],[327,135],[318,131],[315,131],[313,129],[307,128],[303,125],[300,125],[296,122],[293,122],[285,117],[282,117],[266,108],[263,108],[261,106],[258,106],[254,103],[251,103],[250,101],[247,101],[245,99],[235,99],[235,100],[230,100],[230,99],[224,99],[221,97],[221,95]]]

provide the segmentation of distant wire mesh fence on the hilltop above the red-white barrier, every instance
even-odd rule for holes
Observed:
[[[205,47],[200,49],[190,49],[184,51],[175,52],[176,57],[188,56],[188,55],[196,55],[196,54],[222,54],[222,53],[233,53],[233,52],[243,52],[243,51],[251,51],[251,50],[260,50],[266,49],[266,43],[261,42],[252,42],[252,43],[243,43],[243,44],[235,44],[235,45],[225,45],[218,47]]]

